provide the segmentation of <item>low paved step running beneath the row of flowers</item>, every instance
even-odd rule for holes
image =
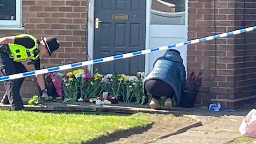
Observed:
[[[135,105],[135,104],[111,104],[111,105],[95,105],[85,102],[75,102],[74,104],[64,104],[59,102],[44,102],[38,106],[26,105],[24,103],[24,110],[32,111],[78,111],[78,112],[110,112],[110,113],[124,113],[134,114],[138,112],[143,113],[158,113],[158,114],[171,114],[171,113],[184,113],[191,111],[188,108],[176,108],[173,110],[154,110],[148,106]],[[10,105],[3,105],[0,103],[0,109],[10,110]]]

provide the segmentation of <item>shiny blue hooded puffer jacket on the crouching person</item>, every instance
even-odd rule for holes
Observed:
[[[168,50],[164,56],[159,57],[153,66],[153,70],[143,82],[143,92],[146,94],[145,82],[152,79],[160,79],[173,87],[177,104],[180,103],[182,91],[185,88],[186,71],[183,60],[178,52]]]

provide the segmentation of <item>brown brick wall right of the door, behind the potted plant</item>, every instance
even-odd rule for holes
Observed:
[[[253,25],[255,10],[252,6],[255,3],[246,0],[247,26]],[[216,33],[242,28],[243,0],[216,0],[215,18]],[[189,39],[214,33],[214,1],[190,0]],[[196,104],[208,106],[212,102],[220,102],[223,107],[239,108],[247,102],[252,102],[248,98],[249,96],[253,98],[255,95],[254,42],[255,32],[250,32],[246,33],[246,51],[244,51],[243,34],[188,47],[188,72],[204,71],[203,84]]]

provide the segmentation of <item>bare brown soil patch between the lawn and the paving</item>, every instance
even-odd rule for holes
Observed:
[[[138,114],[138,117],[151,118],[153,125],[145,128],[133,128],[116,134],[110,134],[108,137],[99,138],[94,142],[98,144],[134,144],[146,143],[161,135],[174,132],[175,130],[196,122],[192,118],[176,117],[173,114]]]

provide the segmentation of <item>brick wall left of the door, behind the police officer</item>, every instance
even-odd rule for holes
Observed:
[[[41,68],[86,60],[87,0],[22,0],[22,22],[24,30],[0,30],[0,37],[29,33],[37,38],[54,36],[60,48],[51,58],[43,58]],[[33,66],[26,66],[33,70]],[[28,78],[31,79],[31,78]],[[34,82],[25,81],[22,97],[38,93]],[[4,93],[0,83],[0,97]]]

